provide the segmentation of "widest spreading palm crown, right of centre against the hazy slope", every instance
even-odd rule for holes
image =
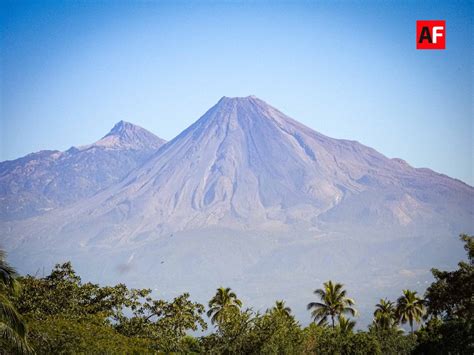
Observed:
[[[346,297],[346,290],[340,283],[333,284],[332,281],[327,281],[323,284],[323,288],[314,291],[314,294],[319,296],[321,302],[311,302],[308,304],[308,310],[312,309],[311,316],[314,321],[319,319],[319,325],[324,324],[328,317],[331,317],[331,323],[334,328],[334,318],[341,314],[349,313],[353,316],[357,311],[352,306],[355,304],[354,300]]]

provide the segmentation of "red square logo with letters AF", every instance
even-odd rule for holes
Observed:
[[[446,21],[416,21],[416,49],[446,49]]]

